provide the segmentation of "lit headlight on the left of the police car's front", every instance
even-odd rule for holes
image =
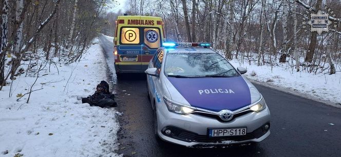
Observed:
[[[173,102],[169,100],[167,97],[163,97],[163,100],[168,108],[168,111],[183,115],[190,114],[194,111],[194,109],[191,108],[190,106],[186,107],[185,105]]]

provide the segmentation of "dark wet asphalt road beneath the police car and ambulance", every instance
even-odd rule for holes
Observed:
[[[100,39],[112,70],[112,41]],[[341,156],[341,109],[260,85],[255,86],[271,112],[271,134],[261,143],[195,149],[159,142],[153,134],[145,75],[111,78],[122,112],[118,153],[124,156]]]

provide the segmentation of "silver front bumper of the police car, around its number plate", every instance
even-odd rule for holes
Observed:
[[[230,144],[261,142],[270,135],[270,111],[268,108],[220,122],[213,117],[196,114],[181,115],[163,108],[158,111],[158,134],[164,141],[187,147],[211,147]],[[266,127],[266,125],[268,125]],[[246,127],[247,134],[210,138],[208,128]],[[166,130],[171,130],[167,134]]]

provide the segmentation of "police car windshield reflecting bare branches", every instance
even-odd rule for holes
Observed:
[[[236,77],[239,73],[217,53],[167,53],[164,73],[170,77]]]

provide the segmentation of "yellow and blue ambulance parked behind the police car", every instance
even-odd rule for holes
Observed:
[[[162,19],[118,16],[113,42],[117,77],[122,73],[144,73],[156,50],[165,42]]]

